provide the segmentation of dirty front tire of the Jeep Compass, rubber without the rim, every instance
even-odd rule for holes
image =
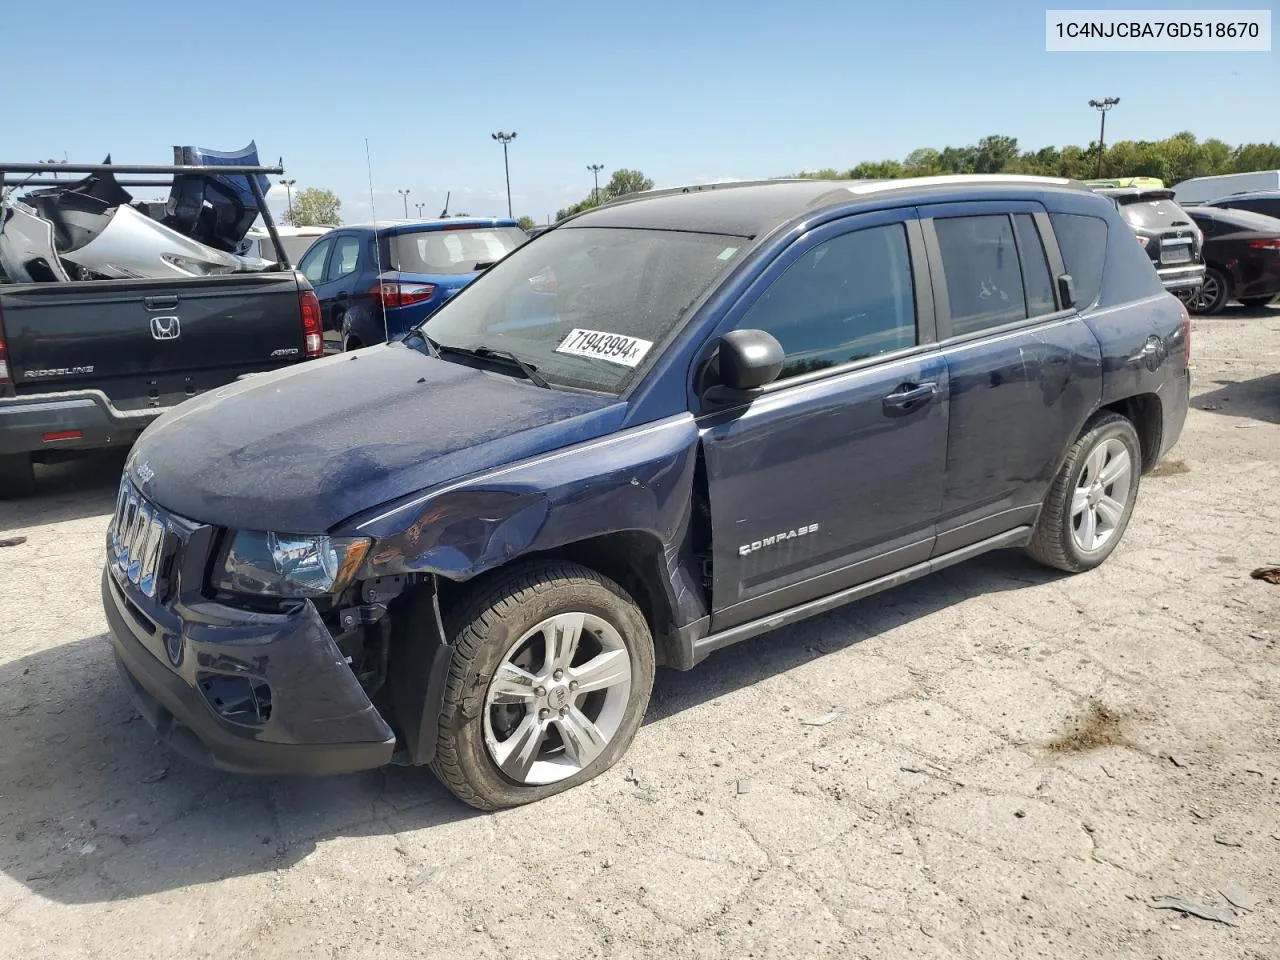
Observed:
[[[568,612],[605,620],[622,636],[631,662],[623,719],[600,755],[577,773],[552,783],[517,783],[485,746],[485,694],[512,644],[548,617]],[[599,776],[630,746],[653,689],[653,636],[640,608],[608,577],[577,563],[522,564],[486,579],[444,626],[454,653],[431,769],[463,803],[497,810],[553,796]]]

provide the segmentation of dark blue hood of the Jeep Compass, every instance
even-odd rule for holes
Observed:
[[[133,447],[133,483],[191,520],[321,534],[358,512],[618,428],[626,403],[402,344],[187,401]]]

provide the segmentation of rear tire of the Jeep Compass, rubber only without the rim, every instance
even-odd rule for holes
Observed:
[[[1129,494],[1124,504],[1120,522],[1110,539],[1096,550],[1084,550],[1075,541],[1071,534],[1071,494],[1074,493],[1080,474],[1084,471],[1089,454],[1107,440],[1119,440],[1129,452],[1130,481]],[[1096,413],[1080,431],[1079,439],[1071,444],[1062,462],[1061,470],[1053,477],[1044,506],[1041,508],[1039,520],[1032,534],[1032,541],[1027,545],[1027,553],[1047,567],[1066,571],[1068,573],[1080,573],[1093,570],[1105,561],[1116,548],[1129,526],[1133,516],[1133,506],[1138,499],[1139,477],[1142,474],[1142,444],[1133,424],[1119,413],[1107,411]]]

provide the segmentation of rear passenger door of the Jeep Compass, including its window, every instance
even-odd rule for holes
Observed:
[[[945,204],[920,216],[951,388],[943,554],[1034,522],[1097,406],[1101,349],[1059,301],[1065,270],[1039,204]]]

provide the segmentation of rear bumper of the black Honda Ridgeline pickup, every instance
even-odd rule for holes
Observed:
[[[132,443],[165,410],[118,410],[101,390],[0,398],[0,453],[87,451]],[[76,435],[46,440],[46,434]]]

